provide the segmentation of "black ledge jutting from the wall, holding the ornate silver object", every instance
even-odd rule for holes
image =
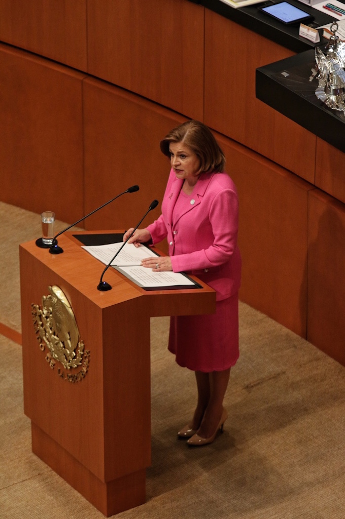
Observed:
[[[345,115],[316,97],[313,66],[315,52],[308,50],[256,69],[256,97],[345,152]]]

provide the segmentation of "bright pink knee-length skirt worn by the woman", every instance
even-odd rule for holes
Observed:
[[[218,301],[215,313],[170,318],[168,349],[192,371],[224,371],[234,366],[238,348],[238,293]]]

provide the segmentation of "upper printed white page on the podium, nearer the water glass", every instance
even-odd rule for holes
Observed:
[[[97,260],[101,261],[105,265],[108,265],[111,258],[121,249],[123,242],[111,243],[109,245],[84,245],[82,249],[89,252]],[[140,265],[143,258],[157,256],[151,249],[148,249],[144,245],[141,247],[135,247],[133,243],[126,243],[121,252],[116,256],[111,266],[135,266]]]

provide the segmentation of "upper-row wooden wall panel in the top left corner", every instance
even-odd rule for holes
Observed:
[[[0,0],[0,40],[87,69],[86,0]]]

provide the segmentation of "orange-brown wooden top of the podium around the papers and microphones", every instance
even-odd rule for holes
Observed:
[[[21,263],[25,264],[29,258],[38,262],[40,268],[51,271],[52,284],[59,284],[62,280],[67,282],[99,308],[107,308],[145,297],[145,306],[152,317],[193,314],[194,312],[212,313],[215,310],[214,290],[193,276],[192,278],[202,286],[201,289],[146,291],[117,270],[109,268],[105,273],[104,281],[110,283],[112,290],[107,292],[97,290],[105,265],[82,249],[82,243],[74,235],[113,234],[116,232],[109,230],[66,232],[59,236],[59,245],[64,252],[57,255],[50,254],[49,249],[37,247],[35,240],[22,243],[20,245]],[[160,253],[158,250],[157,252]]]

